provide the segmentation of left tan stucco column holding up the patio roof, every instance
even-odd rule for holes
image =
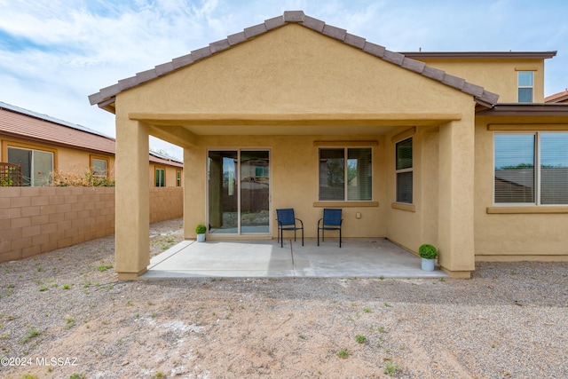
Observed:
[[[115,265],[120,280],[136,279],[150,264],[148,128],[116,115]]]

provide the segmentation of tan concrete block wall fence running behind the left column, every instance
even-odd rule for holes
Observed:
[[[183,216],[183,187],[150,188],[150,223]],[[0,263],[114,234],[114,187],[0,187]]]

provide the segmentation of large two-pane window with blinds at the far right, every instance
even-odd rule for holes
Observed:
[[[495,134],[496,204],[568,204],[568,133]]]

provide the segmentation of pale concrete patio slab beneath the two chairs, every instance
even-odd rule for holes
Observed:
[[[183,241],[151,259],[140,279],[177,278],[444,278],[420,258],[385,239]]]

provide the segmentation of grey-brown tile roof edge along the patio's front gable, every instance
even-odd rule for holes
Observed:
[[[267,33],[274,28],[280,28],[289,23],[297,23],[298,25],[301,25],[305,28],[315,30],[323,34],[324,36],[335,38],[343,43],[347,43],[348,45],[356,49],[374,55],[379,59],[383,59],[397,66],[406,68],[407,70],[414,71],[417,74],[427,76],[440,83],[444,83],[450,87],[453,87],[458,91],[468,93],[469,95],[472,95],[476,99],[481,100],[485,103],[494,105],[499,99],[499,95],[493,92],[485,91],[485,89],[481,86],[473,83],[468,83],[460,77],[446,74],[446,72],[438,68],[426,66],[423,62],[408,58],[404,54],[401,54],[399,52],[388,51],[381,45],[367,42],[365,38],[353,36],[347,33],[345,29],[336,28],[331,25],[327,25],[324,21],[306,16],[303,11],[288,11],[284,12],[284,14],[281,16],[265,20],[262,24],[255,25],[250,28],[245,28],[242,32],[228,36],[224,40],[209,43],[209,46],[194,50],[190,54],[172,59],[170,62],[166,62],[162,65],[140,72],[135,76],[119,80],[118,83],[103,88],[99,92],[92,94],[91,96],[89,96],[89,100],[91,102],[91,105],[98,104],[99,107],[104,107],[109,103],[112,103],[114,101],[114,96],[122,91],[136,87],[138,84],[146,83],[159,76],[167,75],[180,67],[191,65],[197,60],[205,59],[213,54],[216,54],[219,51],[224,51],[238,43],[243,43],[256,36]]]

